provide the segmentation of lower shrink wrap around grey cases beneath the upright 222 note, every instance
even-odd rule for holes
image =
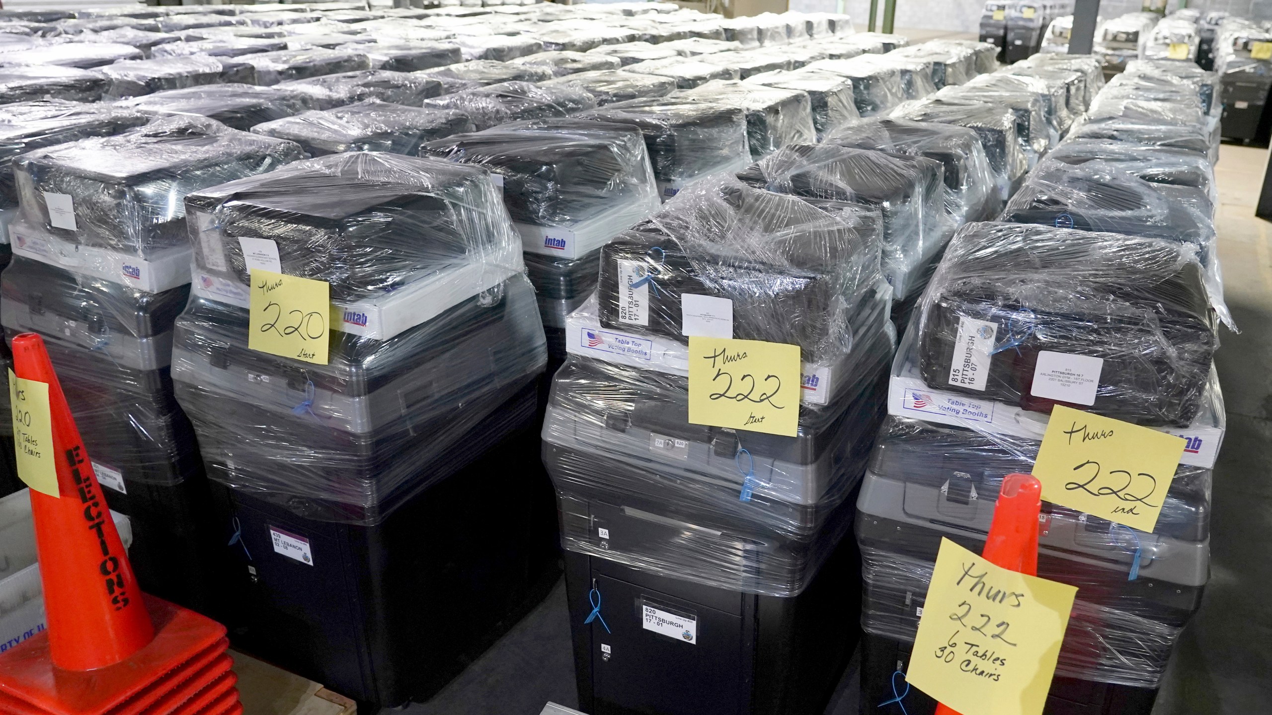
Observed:
[[[881,371],[889,340],[876,336],[861,382]],[[880,416],[871,387],[837,411],[801,410],[799,435],[775,436],[688,424],[682,375],[571,356],[543,424],[562,545],[674,579],[798,595],[851,527],[846,503]]]

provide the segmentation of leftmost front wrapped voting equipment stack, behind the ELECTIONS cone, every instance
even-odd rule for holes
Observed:
[[[123,130],[140,115],[65,104],[10,106],[25,111],[36,145],[56,141],[52,131],[34,135],[41,122],[88,139],[14,162],[15,257],[0,279],[0,322],[10,338],[43,336],[107,501],[132,519],[142,588],[207,608],[219,578],[209,548],[219,536],[169,374],[173,322],[190,293],[179,197],[303,154],[202,117]]]

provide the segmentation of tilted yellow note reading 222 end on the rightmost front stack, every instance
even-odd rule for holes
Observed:
[[[1151,532],[1183,454],[1183,438],[1056,406],[1033,475],[1047,501]]]

